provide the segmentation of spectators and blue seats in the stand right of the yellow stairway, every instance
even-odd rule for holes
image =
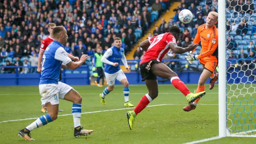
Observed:
[[[227,1],[227,58],[241,58],[241,52],[245,53],[246,57],[242,58],[255,58],[256,52],[256,16],[253,15],[256,12],[256,4],[252,3],[251,0],[226,0]],[[245,4],[246,3],[246,4]],[[183,24],[178,19],[178,14],[181,10],[188,9],[194,15],[193,21],[189,24]],[[178,8],[175,9],[176,14],[173,18],[170,18],[168,22],[162,19],[160,26],[156,26],[154,32],[148,34],[148,38],[168,32],[168,27],[171,25],[178,25],[182,34],[180,39],[177,41],[178,46],[187,47],[192,44],[194,37],[196,36],[197,28],[201,24],[206,22],[206,16],[210,11],[218,12],[218,0],[181,0]],[[218,28],[218,23],[216,24]],[[196,54],[200,53],[200,43],[196,49]],[[243,50],[240,50],[243,49]],[[134,53],[136,55],[138,50]],[[242,54],[244,55],[244,54]],[[166,54],[166,58],[171,58],[172,53]],[[176,56],[176,55],[175,55]],[[177,56],[184,59],[184,55]],[[134,57],[140,59],[141,57]],[[240,61],[238,64],[241,64]],[[248,60],[247,64],[255,62]],[[176,62],[176,67],[187,64],[186,61]],[[196,63],[197,66],[201,66]],[[253,65],[253,64],[251,64]],[[171,67],[171,66],[170,66]],[[253,66],[250,66],[253,68]]]

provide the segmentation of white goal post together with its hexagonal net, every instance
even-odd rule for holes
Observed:
[[[218,0],[219,138],[256,137],[256,57],[251,54],[255,54],[256,48],[248,48],[249,43],[256,46],[256,35],[252,32],[256,0],[243,0],[243,4],[226,1]],[[247,31],[239,29],[240,22]],[[233,25],[238,26],[238,31],[231,30]],[[234,46],[230,49],[231,40]]]

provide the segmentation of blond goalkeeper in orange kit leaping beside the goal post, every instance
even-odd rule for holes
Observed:
[[[185,58],[192,64],[194,60],[199,60],[203,66],[203,72],[198,81],[196,93],[204,91],[204,84],[210,77],[210,90],[214,87],[218,76],[214,74],[216,66],[218,66],[218,29],[214,26],[218,22],[218,13],[210,12],[206,18],[206,24],[198,27],[193,44],[198,44],[201,40],[202,49],[199,55],[194,55],[194,50],[188,53]],[[189,112],[194,110],[200,98],[192,104],[184,107],[183,110]]]

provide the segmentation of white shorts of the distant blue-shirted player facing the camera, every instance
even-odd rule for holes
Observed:
[[[122,79],[126,78],[126,76],[122,70],[118,70],[118,72],[116,72],[114,74],[108,74],[105,72],[105,76],[106,76],[106,80],[107,80],[107,83],[109,86],[114,86],[115,80],[118,80],[120,82]]]

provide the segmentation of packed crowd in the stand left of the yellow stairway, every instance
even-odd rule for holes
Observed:
[[[98,47],[104,53],[115,37],[129,52],[169,6],[169,0],[0,0],[0,66],[34,66],[49,23],[66,28],[64,49],[74,56],[93,57]]]

